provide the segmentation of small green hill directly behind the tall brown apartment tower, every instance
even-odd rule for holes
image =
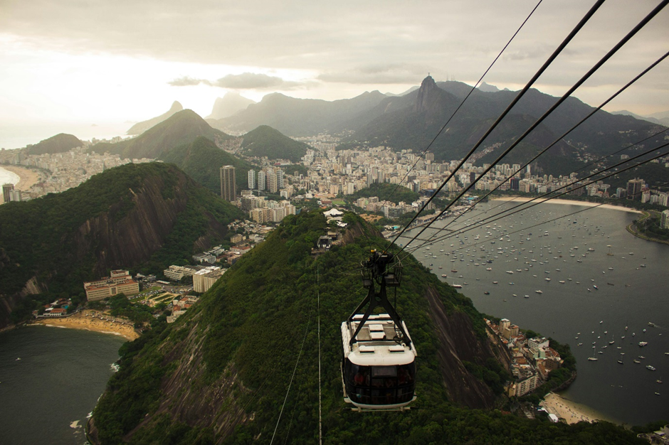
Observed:
[[[248,188],[248,171],[253,168],[250,163],[219,149],[204,136],[197,136],[190,144],[164,152],[159,159],[177,164],[196,183],[216,194],[221,191],[221,166],[236,168],[237,190]]]

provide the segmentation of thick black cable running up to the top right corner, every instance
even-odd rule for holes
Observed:
[[[642,29],[644,26],[646,26],[646,24],[648,24],[648,22],[649,22],[650,20],[652,20],[653,17],[655,17],[660,11],[662,11],[662,9],[663,9],[665,6],[667,6],[667,4],[669,4],[669,0],[663,0],[663,1],[660,2],[660,4],[659,4],[658,6],[655,6],[655,8],[654,8],[652,11],[650,11],[650,13],[648,13],[648,14],[646,15],[646,17],[644,17],[644,18],[643,18],[643,19],[642,19],[642,20],[641,20],[641,21],[640,21],[634,28],[632,28],[632,30],[631,30],[630,32],[628,32],[628,33],[626,34],[626,36],[623,37],[623,38],[621,39],[621,41],[619,41],[618,43],[616,43],[616,45],[613,46],[613,48],[611,48],[611,50],[609,50],[609,52],[606,53],[606,55],[604,55],[604,57],[602,57],[602,58],[599,60],[599,62],[597,62],[592,68],[590,68],[590,70],[589,70],[586,74],[584,74],[584,75],[581,77],[581,79],[579,79],[579,80],[578,80],[578,81],[577,81],[571,88],[569,88],[569,90],[567,90],[567,92],[565,92],[564,95],[562,95],[562,97],[560,97],[559,100],[557,100],[557,102],[555,102],[555,103],[552,105],[552,107],[550,107],[546,112],[544,112],[544,114],[542,114],[542,116],[539,117],[539,119],[537,119],[537,121],[534,122],[534,124],[530,125],[530,128],[528,128],[527,130],[525,130],[525,133],[523,133],[520,137],[518,137],[518,138],[517,138],[517,139],[516,139],[516,140],[515,140],[515,141],[514,141],[508,148],[507,148],[507,149],[505,149],[505,151],[502,152],[502,154],[500,154],[500,156],[497,156],[497,159],[495,159],[495,161],[493,161],[493,162],[490,164],[490,166],[488,166],[488,168],[485,168],[485,169],[483,170],[483,173],[481,173],[480,176],[479,176],[478,178],[475,179],[475,181],[473,181],[473,182],[470,183],[468,186],[466,186],[465,188],[463,188],[463,190],[460,191],[460,193],[458,193],[458,195],[451,201],[451,203],[449,203],[448,205],[446,205],[446,207],[443,208],[443,210],[441,210],[441,213],[439,213],[439,214],[436,216],[436,218],[433,218],[432,221],[435,221],[437,218],[439,218],[441,215],[443,215],[443,213],[446,213],[446,210],[448,210],[449,208],[451,208],[451,205],[453,205],[453,203],[457,202],[460,198],[462,198],[463,195],[465,195],[465,193],[467,193],[467,192],[470,190],[470,188],[472,188],[473,186],[475,186],[475,184],[478,183],[478,181],[480,181],[480,179],[483,178],[483,176],[485,176],[485,174],[488,173],[488,171],[492,170],[492,168],[493,168],[497,163],[499,163],[499,162],[500,162],[500,161],[501,161],[507,154],[509,154],[510,151],[512,151],[512,149],[514,149],[518,144],[520,144],[520,142],[521,142],[523,139],[525,139],[525,137],[526,137],[528,134],[530,134],[530,133],[531,133],[531,132],[532,132],[532,131],[533,131],[533,130],[534,130],[534,129],[541,123],[541,122],[543,122],[544,119],[546,119],[546,118],[549,116],[549,114],[551,114],[552,112],[554,112],[555,109],[557,109],[557,107],[559,107],[559,105],[562,104],[562,102],[564,102],[565,100],[567,100],[567,99],[571,96],[571,94],[572,94],[574,91],[576,91],[576,89],[577,89],[578,87],[580,87],[586,80],[589,79],[589,77],[591,77],[591,75],[593,75],[594,73],[596,73],[596,71],[599,70],[599,68],[601,68],[601,66],[604,65],[604,63],[606,63],[607,60],[609,60],[611,57],[613,57],[613,55],[614,55],[618,50],[620,50],[620,48],[622,48],[623,45],[625,45],[625,44],[626,44],[626,43],[627,43],[633,36],[635,36],[636,33],[638,33],[638,31],[641,31],[641,29]],[[458,168],[459,168],[459,166],[458,166]],[[455,172],[453,172],[453,173],[455,173]],[[451,176],[452,176],[452,175],[451,175]],[[450,178],[449,178],[449,179],[450,179]],[[447,181],[448,181],[448,180],[447,180]],[[442,187],[443,187],[443,185],[442,185]],[[441,190],[441,188],[440,188],[440,190]],[[436,195],[436,193],[435,193],[434,195]],[[434,195],[432,195],[432,198],[434,197]],[[429,201],[428,201],[428,202],[429,202]],[[429,227],[429,225],[427,225],[426,227],[423,227],[423,229],[421,229],[421,232],[418,232],[418,235],[417,235],[417,236],[420,236],[421,233],[424,232],[428,227]]]

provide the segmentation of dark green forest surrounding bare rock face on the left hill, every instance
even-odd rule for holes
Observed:
[[[162,184],[163,198],[174,198],[179,176],[183,178],[184,173],[169,164],[127,164],[99,173],[63,193],[0,206],[1,293],[11,295],[21,291],[29,279],[36,277],[41,284],[48,284],[51,294],[61,291],[79,294],[83,290],[82,282],[99,278],[94,273],[98,262],[94,250],[100,246],[93,245],[90,251],[78,252],[75,245],[82,226],[102,216],[112,222],[122,221],[135,210],[135,193],[149,181]],[[187,262],[195,253],[194,245],[200,237],[216,238],[210,228],[212,220],[223,227],[218,235],[222,239],[227,223],[241,215],[238,209],[188,178],[186,184],[184,190],[178,191],[185,193],[187,199],[184,211],[162,247],[144,264],[152,272],[169,264]],[[137,266],[139,264],[116,265]]]

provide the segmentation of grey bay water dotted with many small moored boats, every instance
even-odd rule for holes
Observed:
[[[492,201],[436,225],[459,230],[515,205]],[[564,397],[614,422],[669,420],[669,245],[630,235],[625,227],[638,214],[621,210],[595,208],[544,223],[583,209],[540,204],[457,237],[452,232],[414,256],[461,284],[479,311],[569,343],[579,376]],[[428,232],[436,230],[421,238]],[[589,361],[593,354],[598,360]]]

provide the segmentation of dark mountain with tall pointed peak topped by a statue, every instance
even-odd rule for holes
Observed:
[[[354,134],[344,142],[367,141],[371,145],[386,144],[397,150],[422,151],[470,90],[471,87],[462,82],[434,82],[431,77],[426,77],[418,91],[403,97],[388,97],[366,114],[347,122],[347,129],[354,130]],[[461,159],[516,95],[517,92],[512,91],[475,90],[433,144],[431,151],[436,159]],[[507,114],[502,124],[485,139],[481,149],[487,149],[488,154],[480,158],[478,163],[495,159],[555,102],[556,97],[529,90]],[[512,155],[502,162],[527,159],[526,156],[519,156],[522,146],[525,146],[527,153],[536,153],[592,110],[593,107],[588,104],[570,97],[525,138],[519,150],[512,151]],[[537,159],[532,164],[533,171],[569,173],[570,168],[579,165],[579,158],[582,159],[585,154],[609,154],[611,146],[631,144],[658,129],[660,127],[656,124],[632,117],[596,112],[571,132],[566,140],[559,141],[547,155]],[[556,164],[554,161],[557,159],[559,162]]]

